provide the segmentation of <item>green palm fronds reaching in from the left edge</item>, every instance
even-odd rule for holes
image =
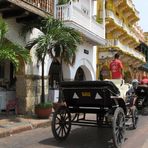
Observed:
[[[24,47],[11,43],[5,38],[8,32],[8,25],[0,17],[0,62],[9,60],[12,62],[16,70],[19,68],[19,59],[23,59],[25,62],[29,61],[29,51]]]

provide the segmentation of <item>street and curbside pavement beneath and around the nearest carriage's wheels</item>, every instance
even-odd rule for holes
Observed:
[[[72,130],[65,143],[59,144],[53,138],[52,132],[50,131],[51,128],[48,127],[50,125],[51,118],[37,119],[35,117],[0,115],[0,147],[16,148],[16,145],[18,145],[17,148],[22,148],[20,146],[23,144],[23,147],[25,148],[97,148],[98,146],[101,148],[113,148],[111,129],[91,127],[80,128],[78,126]],[[15,138],[17,140],[15,140]],[[28,139],[27,142],[29,141],[28,144],[25,144],[26,139]],[[44,145],[44,142],[44,144],[42,144],[39,141],[44,141],[46,146]],[[5,146],[4,143],[8,143],[8,145]],[[11,147],[12,144],[13,146]],[[148,148],[148,116],[140,115],[137,129],[127,130],[126,140],[122,145],[122,148]]]

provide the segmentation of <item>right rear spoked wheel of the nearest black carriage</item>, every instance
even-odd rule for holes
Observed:
[[[120,148],[124,142],[125,135],[125,114],[121,107],[116,108],[112,120],[113,142],[116,148]]]

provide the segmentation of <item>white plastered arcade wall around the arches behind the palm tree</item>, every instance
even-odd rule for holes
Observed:
[[[26,42],[31,40],[32,38],[38,36],[40,31],[37,29],[33,29],[32,33],[27,34],[27,40],[25,38],[20,37],[21,25],[15,23],[15,20],[7,20],[9,24],[9,32],[7,34],[7,38],[12,42],[17,42],[23,46],[25,46]],[[89,52],[89,54],[84,53],[84,49]],[[25,67],[26,74],[34,74],[41,75],[41,64],[37,63],[37,58],[35,56],[35,49],[32,48],[31,51],[32,63],[29,63]],[[45,76],[48,76],[50,64],[52,60],[47,56],[45,60]],[[78,46],[78,51],[76,55],[76,62],[73,67],[63,66],[64,79],[74,79],[76,71],[79,67],[85,72],[86,78],[89,80],[94,80],[96,76],[96,58],[95,58],[95,50],[93,50],[93,45],[84,41],[82,45]]]

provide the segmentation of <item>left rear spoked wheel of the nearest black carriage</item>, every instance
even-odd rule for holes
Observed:
[[[56,140],[67,138],[71,130],[71,114],[65,106],[59,107],[53,114],[52,133]]]

